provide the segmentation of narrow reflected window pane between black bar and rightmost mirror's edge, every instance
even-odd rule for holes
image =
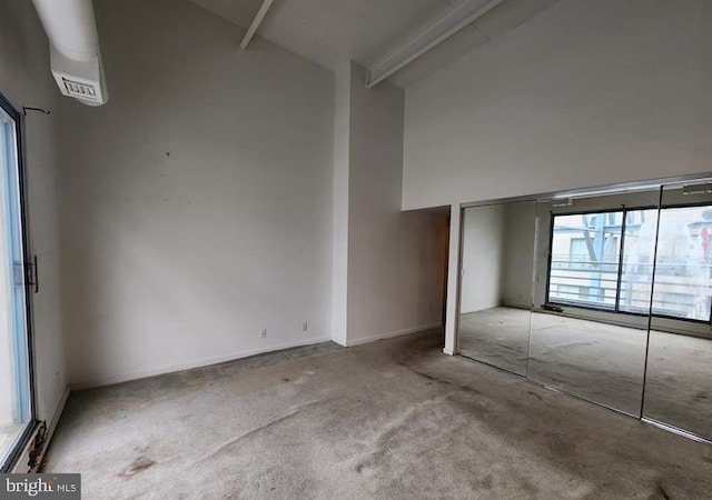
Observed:
[[[657,210],[625,212],[619,310],[647,314],[653,281]]]

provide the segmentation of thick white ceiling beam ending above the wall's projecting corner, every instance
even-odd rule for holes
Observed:
[[[471,24],[504,0],[462,0],[425,24],[368,68],[366,87],[372,88]]]

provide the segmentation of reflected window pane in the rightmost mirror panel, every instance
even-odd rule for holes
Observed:
[[[711,231],[711,206],[661,210],[654,314],[710,320]]]

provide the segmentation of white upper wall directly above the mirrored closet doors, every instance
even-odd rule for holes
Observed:
[[[406,91],[403,207],[712,170],[712,3],[566,0]]]

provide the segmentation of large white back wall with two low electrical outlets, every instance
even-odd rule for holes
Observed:
[[[96,13],[110,101],[60,109],[71,382],[328,340],[333,74],[187,0]]]

